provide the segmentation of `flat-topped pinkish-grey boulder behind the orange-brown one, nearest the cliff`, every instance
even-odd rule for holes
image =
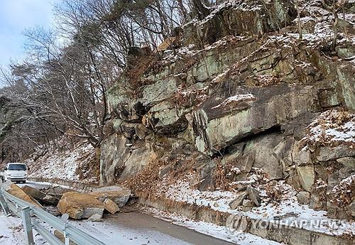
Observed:
[[[129,197],[131,197],[131,190],[121,185],[112,185],[99,188],[89,192],[89,194],[97,197],[97,200],[101,202],[109,199],[116,203],[119,207],[124,207],[129,200]]]

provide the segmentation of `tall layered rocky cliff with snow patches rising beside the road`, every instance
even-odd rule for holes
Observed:
[[[109,92],[100,182],[163,197],[185,180],[234,193],[285,183],[354,219],[354,4],[334,23],[300,1],[301,39],[293,1],[222,1],[157,50],[131,48]]]

